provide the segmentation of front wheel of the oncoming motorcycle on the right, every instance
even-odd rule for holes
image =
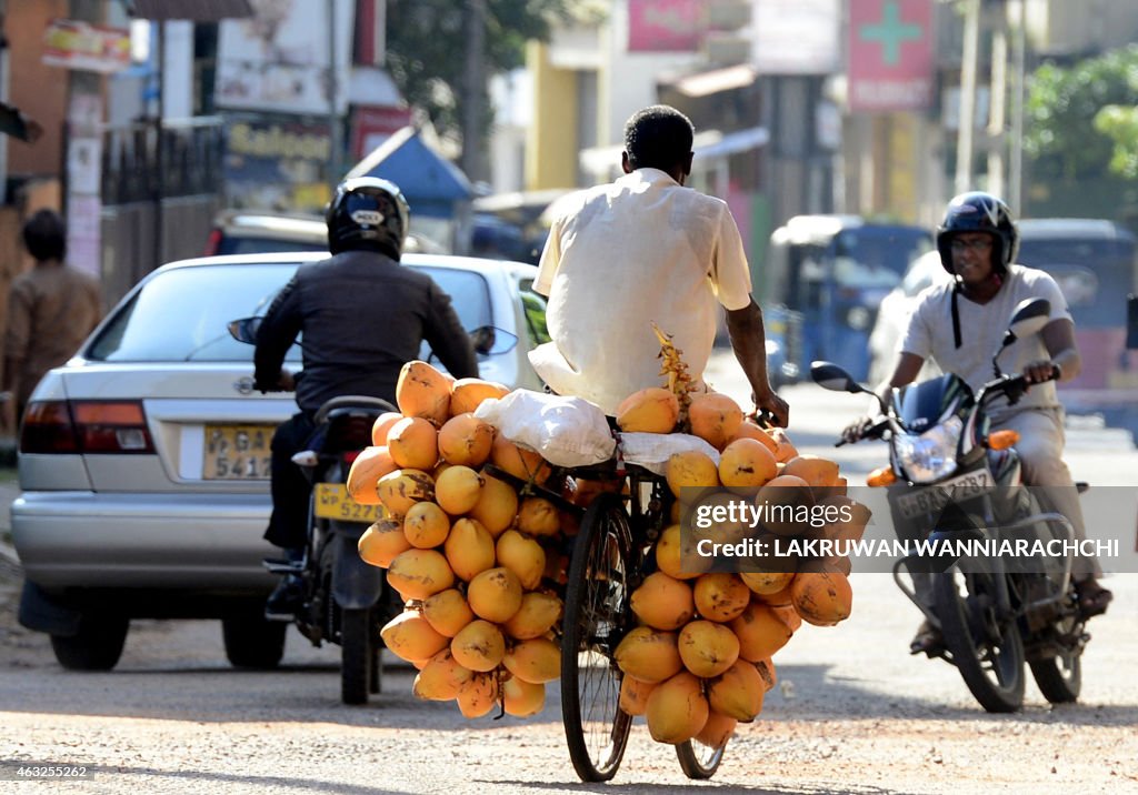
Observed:
[[[988,712],[1023,706],[1023,640],[1014,615],[997,615],[995,574],[949,569],[933,580],[945,646]]]

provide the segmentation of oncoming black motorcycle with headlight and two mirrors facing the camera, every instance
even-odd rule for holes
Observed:
[[[890,463],[872,473],[868,483],[890,487],[894,521],[899,517],[915,540],[925,539],[925,552],[960,548],[941,544],[954,540],[1073,540],[1070,521],[1044,510],[1023,486],[1015,432],[989,432],[987,415],[995,398],[1004,396],[1014,405],[1026,391],[1024,378],[1001,373],[998,358],[1016,339],[1039,333],[1048,313],[1044,299],[1016,307],[992,357],[996,378],[975,395],[960,378],[946,374],[896,389],[889,401],[875,396],[881,416],[861,439],[887,439]],[[810,375],[825,389],[873,394],[832,363],[815,362]],[[1024,662],[1047,701],[1078,699],[1081,655],[1090,636],[1078,611],[1070,555],[1042,555],[1024,564],[999,554],[942,552],[930,558],[914,553],[896,561],[892,573],[943,637],[942,645],[924,649],[927,656],[954,664],[987,711],[1022,707]],[[924,582],[931,585],[931,604],[918,598],[921,577],[930,578]]]

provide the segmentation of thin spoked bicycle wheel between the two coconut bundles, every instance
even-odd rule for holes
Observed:
[[[561,719],[583,781],[617,773],[632,728],[618,704],[620,670],[612,660],[632,615],[632,546],[621,498],[597,497],[574,545],[561,638]]]

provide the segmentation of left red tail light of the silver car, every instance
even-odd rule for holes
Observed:
[[[46,400],[24,415],[20,453],[154,453],[137,400]]]

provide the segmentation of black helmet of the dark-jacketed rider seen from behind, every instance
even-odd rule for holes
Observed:
[[[370,249],[398,259],[407,239],[411,209],[394,182],[356,176],[336,187],[324,220],[332,254]]]

